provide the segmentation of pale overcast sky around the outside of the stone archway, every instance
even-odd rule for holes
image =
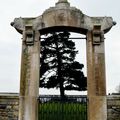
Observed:
[[[58,0],[0,1],[0,92],[19,92],[21,35],[10,26],[16,17],[37,17]],[[111,16],[117,25],[105,35],[107,92],[120,83],[120,1],[69,0],[88,16]],[[85,60],[84,60],[85,62]]]

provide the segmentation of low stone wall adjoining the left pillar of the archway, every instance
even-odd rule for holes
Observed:
[[[0,120],[18,120],[18,94],[0,94]]]

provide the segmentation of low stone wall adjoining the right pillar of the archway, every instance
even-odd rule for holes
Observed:
[[[108,120],[120,120],[120,95],[107,97]]]

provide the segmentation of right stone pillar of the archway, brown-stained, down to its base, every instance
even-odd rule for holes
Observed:
[[[101,26],[87,33],[88,120],[107,120],[104,34]]]

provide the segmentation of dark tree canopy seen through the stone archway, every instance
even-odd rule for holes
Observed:
[[[41,40],[40,87],[65,90],[86,90],[87,78],[82,72],[83,64],[75,61],[78,53],[70,33],[59,32]]]

